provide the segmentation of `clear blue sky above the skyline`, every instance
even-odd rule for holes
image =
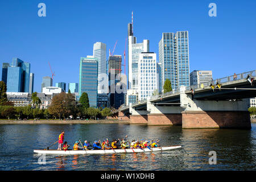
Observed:
[[[46,4],[46,17],[38,16],[40,2]],[[211,2],[217,17],[208,15]],[[19,57],[31,63],[36,92],[42,77],[51,76],[48,61],[53,85],[79,82],[80,57],[93,55],[93,43],[112,51],[118,40],[114,54],[123,55],[131,11],[137,42],[149,39],[157,56],[162,32],[188,30],[190,71],[212,70],[213,78],[251,71],[256,69],[255,7],[253,0],[0,1],[1,75],[2,63]]]

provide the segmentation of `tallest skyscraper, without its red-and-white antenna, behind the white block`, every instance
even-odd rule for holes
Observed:
[[[138,60],[141,52],[149,52],[149,40],[137,43],[133,35],[133,26],[128,24],[128,86],[129,89],[138,89]]]

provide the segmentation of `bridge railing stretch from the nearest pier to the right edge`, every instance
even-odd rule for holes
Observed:
[[[225,83],[225,82],[229,82],[229,81],[236,81],[236,80],[242,80],[245,79],[247,77],[247,75],[251,75],[253,77],[256,76],[256,70],[254,71],[250,71],[250,72],[245,72],[245,73],[240,73],[237,75],[232,75],[232,76],[228,76],[228,77],[224,77],[224,78],[218,78],[216,80],[213,80],[213,83],[216,84],[217,82],[221,83]],[[205,86],[210,86],[210,84],[212,84],[212,81],[208,81],[208,82],[204,82],[203,85]],[[193,89],[197,89],[197,88],[201,88],[201,84],[197,84],[197,85],[192,85]],[[190,87],[186,87],[186,90],[190,90]]]

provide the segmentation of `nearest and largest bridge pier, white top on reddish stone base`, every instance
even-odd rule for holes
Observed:
[[[184,108],[181,111],[183,129],[251,128],[245,100],[192,100],[192,94],[185,94],[185,87],[181,86],[180,102]]]

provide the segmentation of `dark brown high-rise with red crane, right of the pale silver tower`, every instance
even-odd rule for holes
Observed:
[[[110,106],[118,109],[122,104],[125,103],[125,93],[118,93],[115,88],[122,88],[122,84],[118,78],[118,74],[122,72],[122,56],[114,55],[109,56],[109,103]]]

